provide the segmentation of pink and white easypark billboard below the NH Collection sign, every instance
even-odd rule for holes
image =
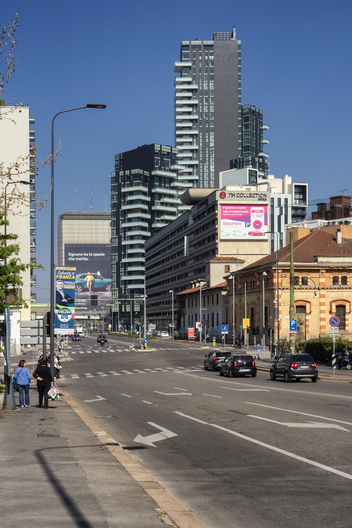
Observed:
[[[268,239],[268,205],[220,205],[220,238]]]

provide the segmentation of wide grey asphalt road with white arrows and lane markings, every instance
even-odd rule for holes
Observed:
[[[123,341],[70,342],[58,385],[204,524],[350,526],[351,383],[229,379],[199,348]]]

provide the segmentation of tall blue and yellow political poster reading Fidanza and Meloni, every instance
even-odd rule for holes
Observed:
[[[56,268],[55,334],[74,333],[75,268]]]

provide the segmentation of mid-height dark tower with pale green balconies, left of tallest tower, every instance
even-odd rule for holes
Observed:
[[[144,242],[189,209],[178,199],[177,148],[143,145],[115,156],[111,178],[112,327],[140,318],[144,294]]]

